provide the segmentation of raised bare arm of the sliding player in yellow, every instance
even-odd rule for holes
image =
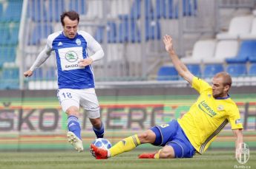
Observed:
[[[188,68],[186,65],[180,61],[178,56],[176,55],[174,48],[173,48],[173,43],[172,43],[172,38],[170,35],[165,35],[163,37],[163,43],[165,44],[165,50],[168,52],[172,63],[174,64],[175,69],[177,69],[177,72],[181,77],[183,77],[188,83],[192,83],[194,75],[189,72]]]

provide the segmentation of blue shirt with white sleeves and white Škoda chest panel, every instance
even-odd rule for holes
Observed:
[[[77,31],[75,38],[62,31],[48,36],[46,50],[55,52],[59,89],[94,88],[92,66],[78,66],[79,60],[88,58],[88,49],[96,52],[102,47],[85,31]]]

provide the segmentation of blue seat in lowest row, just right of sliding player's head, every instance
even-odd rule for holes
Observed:
[[[244,63],[233,63],[226,67],[226,72],[232,77],[240,77],[247,75],[246,64]]]

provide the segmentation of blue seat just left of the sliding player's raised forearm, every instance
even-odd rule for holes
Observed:
[[[174,66],[162,66],[157,72],[157,80],[178,80],[178,72]]]

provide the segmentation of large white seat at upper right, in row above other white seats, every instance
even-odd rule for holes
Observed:
[[[252,25],[252,15],[232,18],[229,24],[229,32],[217,34],[217,39],[237,39],[240,35],[249,34]]]

